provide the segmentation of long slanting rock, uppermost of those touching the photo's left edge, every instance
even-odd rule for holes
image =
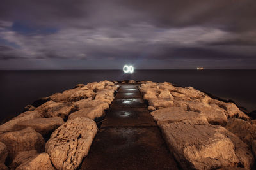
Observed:
[[[22,122],[25,120],[31,120],[34,118],[43,118],[44,116],[38,113],[37,111],[26,111],[21,113],[17,117],[13,118],[12,120],[0,125],[0,132],[9,132],[12,131],[13,126],[18,122]]]

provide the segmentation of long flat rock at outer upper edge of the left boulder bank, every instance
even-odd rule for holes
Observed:
[[[60,103],[68,103],[72,101],[79,101],[81,99],[87,99],[93,97],[95,94],[92,90],[87,87],[76,88],[66,90],[63,93],[53,94],[51,97],[52,101],[60,102]]]

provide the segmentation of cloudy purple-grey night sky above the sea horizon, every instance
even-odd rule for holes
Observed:
[[[255,0],[0,3],[0,69],[256,69]]]

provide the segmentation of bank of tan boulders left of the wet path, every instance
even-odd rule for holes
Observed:
[[[79,84],[26,106],[0,125],[0,169],[77,169],[118,86]]]

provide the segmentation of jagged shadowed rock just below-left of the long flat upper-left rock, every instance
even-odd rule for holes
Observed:
[[[47,101],[42,104],[35,111],[38,111],[44,117],[61,117],[66,118],[70,113],[76,111],[76,107],[72,103],[56,103],[54,101]]]

